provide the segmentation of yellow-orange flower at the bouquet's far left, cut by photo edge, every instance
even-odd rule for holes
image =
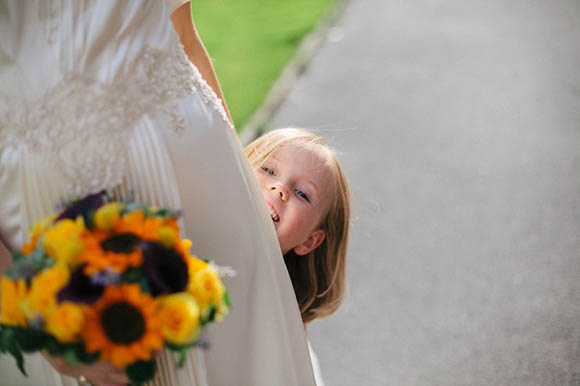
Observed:
[[[26,282],[10,280],[2,277],[2,292],[0,292],[0,323],[9,326],[26,327],[27,319],[22,310],[22,303],[26,299]]]

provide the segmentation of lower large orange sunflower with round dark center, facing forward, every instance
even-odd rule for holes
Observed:
[[[83,335],[87,351],[117,367],[150,360],[163,346],[155,301],[135,284],[107,288],[87,312]]]

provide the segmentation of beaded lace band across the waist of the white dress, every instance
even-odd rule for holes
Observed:
[[[169,50],[145,47],[133,71],[118,79],[104,84],[70,73],[38,100],[9,105],[0,117],[0,156],[8,147],[25,147],[50,162],[66,188],[81,195],[123,182],[127,134],[145,114],[164,114],[179,133],[184,119],[178,100],[200,92],[229,122],[179,42]]]

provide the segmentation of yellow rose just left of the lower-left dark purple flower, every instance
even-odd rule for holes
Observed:
[[[48,315],[56,307],[56,295],[67,283],[70,277],[66,266],[56,264],[45,269],[32,279],[30,293],[26,302],[29,316],[37,314]]]

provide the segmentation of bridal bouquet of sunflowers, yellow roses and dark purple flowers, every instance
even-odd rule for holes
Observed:
[[[180,356],[230,306],[220,270],[189,252],[177,212],[93,194],[34,225],[1,278],[0,351],[109,360],[135,384]]]

